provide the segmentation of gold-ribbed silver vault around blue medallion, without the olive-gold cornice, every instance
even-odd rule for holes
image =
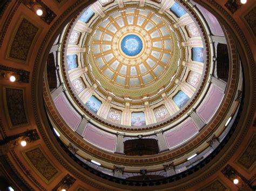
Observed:
[[[142,88],[156,82],[172,63],[170,24],[150,10],[111,13],[99,23],[91,40],[92,58],[100,73],[122,88]],[[177,65],[177,63],[176,63]],[[102,83],[105,86],[105,83]],[[109,86],[105,86],[109,89]]]

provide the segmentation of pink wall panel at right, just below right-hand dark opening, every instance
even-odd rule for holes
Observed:
[[[204,101],[197,109],[197,114],[207,123],[218,109],[224,94],[214,84],[211,85]]]

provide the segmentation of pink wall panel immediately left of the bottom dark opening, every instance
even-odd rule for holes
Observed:
[[[106,150],[114,151],[116,148],[116,135],[99,130],[90,123],[87,123],[83,137],[87,142]]]

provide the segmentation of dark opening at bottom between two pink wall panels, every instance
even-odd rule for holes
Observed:
[[[156,139],[132,139],[124,142],[124,153],[130,156],[158,154],[159,148]]]

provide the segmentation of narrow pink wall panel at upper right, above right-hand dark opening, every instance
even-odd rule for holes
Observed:
[[[212,34],[216,36],[224,36],[223,30],[221,29],[221,26],[217,18],[214,15],[212,15],[211,12],[203,8],[203,6],[197,4],[197,7],[203,13],[207,21],[207,24],[210,26]]]

